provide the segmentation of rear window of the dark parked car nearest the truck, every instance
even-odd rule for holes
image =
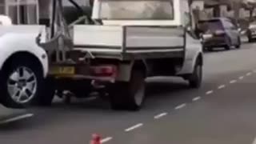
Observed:
[[[203,32],[222,30],[222,22],[218,20],[200,22],[199,29]]]

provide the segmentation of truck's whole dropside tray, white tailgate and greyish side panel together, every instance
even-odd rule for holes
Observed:
[[[174,26],[74,26],[74,49],[120,60],[183,58],[185,33]]]

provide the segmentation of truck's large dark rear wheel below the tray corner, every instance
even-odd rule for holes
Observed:
[[[145,72],[133,70],[130,82],[118,82],[110,89],[113,110],[140,110],[145,100]]]

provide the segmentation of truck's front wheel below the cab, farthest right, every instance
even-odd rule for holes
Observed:
[[[191,88],[199,88],[202,84],[202,65],[197,60],[193,74],[190,74],[190,77],[188,78],[190,87]]]

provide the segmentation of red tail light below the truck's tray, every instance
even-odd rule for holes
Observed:
[[[94,76],[113,77],[117,74],[116,66],[92,66],[90,69]]]

